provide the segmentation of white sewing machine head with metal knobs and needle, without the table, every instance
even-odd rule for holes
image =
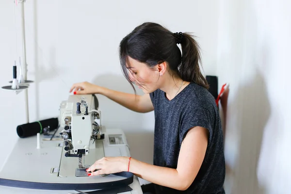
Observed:
[[[92,95],[74,95],[61,103],[60,126],[64,129],[60,138],[64,139],[65,154],[61,157],[60,177],[87,176],[84,170],[104,157],[101,112],[96,99]],[[110,137],[114,141],[116,138]]]

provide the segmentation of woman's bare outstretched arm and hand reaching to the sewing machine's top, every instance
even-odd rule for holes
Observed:
[[[114,102],[138,113],[147,113],[154,110],[149,94],[143,96],[114,91],[89,82],[75,83],[70,89],[74,94],[101,94]]]

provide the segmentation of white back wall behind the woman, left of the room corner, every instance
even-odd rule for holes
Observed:
[[[186,6],[185,6],[186,5]],[[30,122],[58,116],[75,82],[90,81],[130,92],[118,61],[118,44],[137,25],[159,22],[173,32],[194,32],[202,48],[205,74],[216,73],[218,1],[168,0],[27,0],[25,3]],[[17,30],[20,10],[16,7]],[[15,58],[22,56],[20,33],[16,43],[13,0],[0,1],[1,86],[12,79]],[[17,47],[16,47],[17,44]],[[17,48],[17,50],[16,50]],[[17,51],[17,52],[16,52]],[[139,94],[141,91],[139,91]],[[97,96],[102,122],[127,134],[132,156],[152,163],[153,113],[131,112]],[[0,166],[18,136],[16,126],[25,123],[24,93],[0,90]]]

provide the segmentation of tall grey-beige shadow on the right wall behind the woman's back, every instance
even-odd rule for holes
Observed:
[[[233,113],[237,112],[234,124],[237,129],[230,130],[237,132],[240,142],[237,162],[234,169],[228,172],[233,182],[231,193],[264,194],[264,189],[259,185],[257,167],[263,132],[270,117],[270,102],[266,83],[259,71],[252,81],[239,88],[229,108]],[[235,118],[228,115],[227,123],[233,122],[231,119]]]

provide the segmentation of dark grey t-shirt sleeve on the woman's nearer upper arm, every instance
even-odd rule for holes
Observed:
[[[204,107],[194,107],[190,112],[183,115],[180,128],[180,142],[182,142],[189,131],[193,127],[199,126],[208,129],[209,139],[208,145],[211,143],[213,134],[213,116],[210,111]]]

